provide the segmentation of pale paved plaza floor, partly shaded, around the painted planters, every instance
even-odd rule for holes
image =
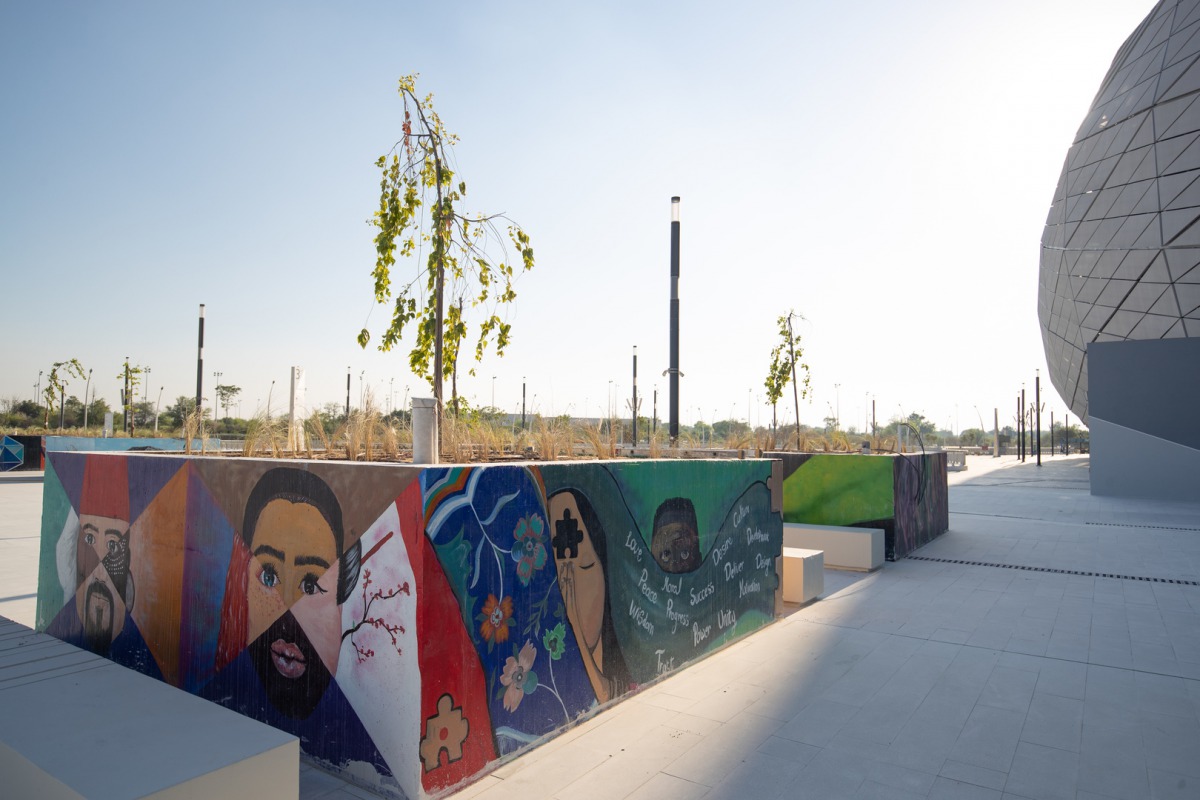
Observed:
[[[1200,498],[1094,498],[1086,456],[968,458],[950,530],[454,798],[1200,798]],[[0,476],[31,625],[41,482]],[[1115,576],[1115,577],[1106,577]],[[371,798],[301,768],[302,798]]]

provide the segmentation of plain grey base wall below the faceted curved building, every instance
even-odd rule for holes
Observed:
[[[1087,348],[1092,494],[1200,497],[1200,338]]]

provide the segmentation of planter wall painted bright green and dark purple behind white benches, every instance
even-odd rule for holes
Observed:
[[[882,528],[889,561],[949,528],[944,452],[767,456],[782,464],[785,522]]]

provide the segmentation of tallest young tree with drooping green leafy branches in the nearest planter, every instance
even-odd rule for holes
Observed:
[[[482,360],[484,351],[493,342],[496,354],[503,356],[511,330],[497,313],[498,307],[516,299],[512,289],[516,269],[533,269],[533,248],[524,230],[503,213],[473,215],[461,210],[467,185],[456,180],[450,157],[458,139],[446,131],[433,109],[433,95],[418,98],[416,77],[400,79],[398,91],[404,103],[403,136],[376,161],[382,178],[379,210],[371,221],[378,228],[372,276],[376,302],[392,301],[391,321],[383,332],[379,349],[391,350],[400,343],[406,326],[416,327],[416,342],[408,354],[408,363],[413,374],[430,381],[440,419],[442,381],[454,374],[460,347],[467,336],[461,301],[466,299],[472,307],[485,308],[475,339],[475,361]],[[419,213],[422,206],[428,210],[427,218]],[[506,225],[508,237],[520,255],[518,264],[492,255],[497,247],[502,257],[508,252],[499,224]],[[412,281],[394,289],[391,269],[396,264],[397,245],[401,257],[420,257],[426,247],[428,255],[424,265],[418,264]],[[448,296],[449,312],[445,309]],[[358,338],[366,348],[371,332],[364,327]],[[457,402],[454,407],[457,408]]]

